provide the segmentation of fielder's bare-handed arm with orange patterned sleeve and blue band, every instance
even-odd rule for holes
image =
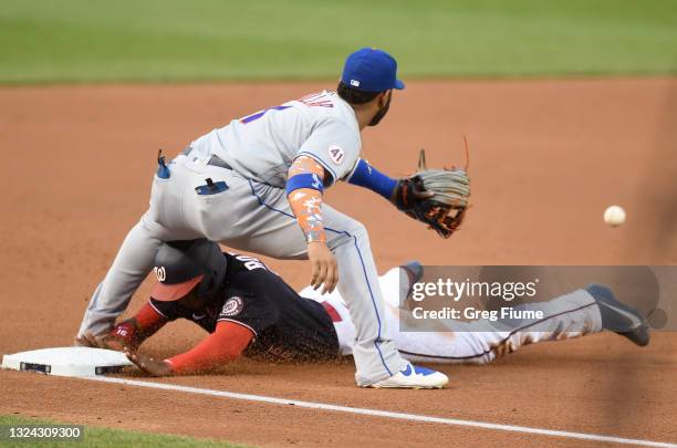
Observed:
[[[323,293],[332,292],[338,283],[338,268],[326,246],[322,217],[325,177],[319,162],[302,155],[294,159],[287,180],[287,199],[308,241],[308,258],[313,269],[311,285],[317,289],[324,284]]]

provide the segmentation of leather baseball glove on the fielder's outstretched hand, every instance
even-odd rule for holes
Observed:
[[[469,196],[467,168],[427,169],[426,153],[421,149],[418,171],[397,183],[395,205],[440,237],[449,238],[464,221]]]

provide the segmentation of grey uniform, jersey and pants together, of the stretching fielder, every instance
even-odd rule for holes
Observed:
[[[346,178],[358,159],[360,127],[347,103],[321,92],[232,121],[188,149],[156,174],[148,211],[94,291],[80,335],[111,329],[150,272],[163,241],[208,238],[278,259],[306,258],[305,236],[284,190],[289,167],[305,154],[331,175],[325,184]],[[383,317],[368,235],[362,223],[326,204],[322,213],[326,243],[338,264],[338,290],[355,324],[355,379],[373,384],[404,368],[406,361]]]

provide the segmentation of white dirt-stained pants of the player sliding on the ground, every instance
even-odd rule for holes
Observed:
[[[403,267],[393,268],[379,278],[385,298],[385,319],[393,329],[399,329],[399,313],[406,312],[399,310],[399,298],[408,293],[412,280],[416,281],[416,278],[407,275]],[[301,295],[320,302],[327,301],[340,315],[347,312],[337,292],[322,296],[306,288]],[[600,285],[591,285],[546,303],[515,306],[515,310],[527,309],[541,310],[545,317],[533,325],[515,326],[512,331],[498,331],[487,322],[455,322],[445,325],[445,331],[396,332],[394,340],[399,353],[408,361],[485,364],[527,344],[579,337],[603,329],[619,332],[619,319],[635,319],[632,309],[617,302],[611,290]],[[611,324],[616,326],[611,327]],[[627,325],[625,321],[622,324]],[[351,323],[335,322],[334,326],[342,350],[352,347],[355,330]],[[645,345],[635,340],[633,342]]]

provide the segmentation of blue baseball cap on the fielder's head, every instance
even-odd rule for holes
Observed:
[[[341,82],[364,92],[403,90],[397,79],[397,61],[383,50],[360,49],[345,60]]]

